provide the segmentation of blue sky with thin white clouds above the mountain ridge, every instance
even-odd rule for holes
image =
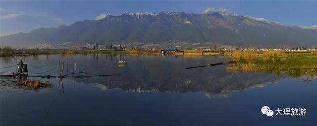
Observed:
[[[225,8],[231,13],[262,17],[283,25],[317,25],[317,1],[0,1],[1,36],[38,28],[95,20],[124,12],[183,11],[202,13]]]

